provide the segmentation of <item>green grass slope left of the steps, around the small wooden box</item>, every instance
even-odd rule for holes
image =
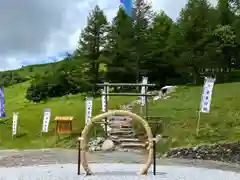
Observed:
[[[0,123],[0,148],[46,148],[55,147],[55,116],[74,116],[73,128],[80,132],[84,126],[85,102],[80,94],[61,98],[53,98],[46,103],[31,103],[25,99],[25,92],[28,82],[16,84],[5,89],[6,113],[8,118],[5,123]],[[111,97],[109,103],[110,109],[129,102],[129,98]],[[52,118],[50,123],[50,132],[40,137],[42,128],[44,108],[51,108]],[[101,99],[95,99],[93,102],[93,115],[101,111]],[[18,135],[15,140],[11,137],[12,113],[19,112]],[[57,146],[64,146],[64,143]]]

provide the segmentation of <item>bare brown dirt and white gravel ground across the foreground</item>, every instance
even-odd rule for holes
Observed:
[[[137,172],[145,158],[146,155],[134,152],[90,153],[88,159],[96,174],[84,179],[141,179]],[[0,180],[81,179],[76,175],[76,162],[76,150],[0,151]],[[148,176],[147,179],[240,179],[240,167],[236,164],[183,159],[158,159],[157,164],[157,176]]]

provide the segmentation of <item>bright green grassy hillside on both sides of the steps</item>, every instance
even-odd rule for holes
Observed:
[[[54,98],[46,103],[31,103],[25,99],[28,82],[5,89],[8,118],[0,123],[0,148],[66,147],[68,139],[56,145],[54,117],[74,116],[74,130],[83,128],[85,103],[82,95]],[[201,114],[200,136],[196,137],[198,108],[202,86],[178,87],[171,98],[150,103],[151,116],[161,116],[165,131],[172,141],[168,147],[198,143],[234,141],[240,138],[240,83],[217,84],[214,87],[210,114]],[[111,97],[110,109],[134,98]],[[44,108],[52,109],[50,132],[40,137]],[[93,115],[100,113],[101,99],[95,99]],[[19,112],[19,129],[15,140],[11,137],[12,113]]]

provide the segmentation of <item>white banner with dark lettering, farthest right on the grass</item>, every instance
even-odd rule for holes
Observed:
[[[212,91],[215,83],[215,78],[205,77],[205,83],[203,86],[202,100],[200,105],[200,112],[209,113],[212,99]]]

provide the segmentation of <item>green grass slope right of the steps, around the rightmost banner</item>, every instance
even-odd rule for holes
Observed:
[[[167,147],[240,139],[240,83],[215,85],[211,112],[201,114],[196,137],[201,93],[202,87],[179,87],[171,98],[150,105],[150,115],[165,117],[164,134],[171,139]]]

